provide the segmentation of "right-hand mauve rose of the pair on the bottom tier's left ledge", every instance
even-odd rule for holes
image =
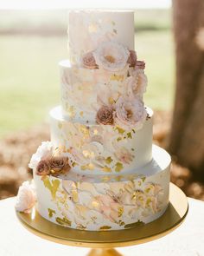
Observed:
[[[55,156],[49,160],[50,173],[53,175],[65,174],[70,170],[67,157]]]

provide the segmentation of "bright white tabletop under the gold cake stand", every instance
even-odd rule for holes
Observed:
[[[29,233],[16,217],[16,198],[0,200],[1,256],[83,256],[88,248],[63,246]],[[118,248],[124,256],[204,256],[204,202],[188,199],[186,220],[173,233],[138,246]]]

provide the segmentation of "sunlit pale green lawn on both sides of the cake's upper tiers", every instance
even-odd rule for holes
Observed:
[[[169,30],[138,32],[137,56],[149,78],[145,102],[172,108],[174,55]],[[60,102],[58,62],[67,58],[67,36],[0,36],[0,136],[48,121]]]

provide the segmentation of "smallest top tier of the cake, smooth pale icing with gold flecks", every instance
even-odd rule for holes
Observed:
[[[74,10],[69,13],[68,49],[70,62],[79,64],[81,57],[99,43],[115,41],[134,49],[134,12],[129,10]]]

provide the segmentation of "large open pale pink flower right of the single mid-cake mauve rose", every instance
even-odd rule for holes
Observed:
[[[114,120],[116,125],[124,129],[140,129],[146,119],[147,112],[139,98],[134,100],[120,96],[115,104]]]

